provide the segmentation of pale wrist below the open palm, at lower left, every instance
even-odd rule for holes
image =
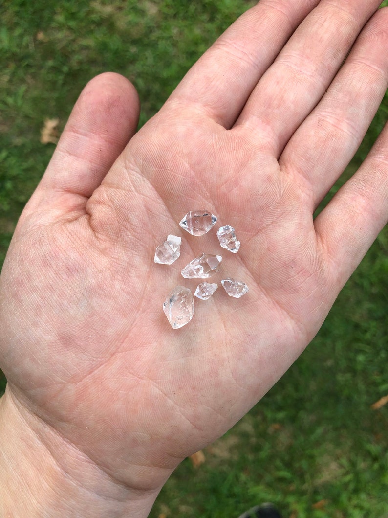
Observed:
[[[161,488],[117,483],[9,390],[0,399],[0,437],[0,516],[141,518]]]

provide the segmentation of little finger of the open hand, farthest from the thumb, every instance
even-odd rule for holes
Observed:
[[[314,221],[339,291],[388,221],[388,123],[360,169]]]

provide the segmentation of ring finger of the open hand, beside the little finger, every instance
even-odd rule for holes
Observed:
[[[280,157],[281,168],[307,180],[312,211],[349,164],[388,88],[387,26],[388,9],[380,9]]]

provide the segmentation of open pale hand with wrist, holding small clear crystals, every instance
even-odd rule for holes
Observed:
[[[315,336],[388,220],[388,127],[312,218],[387,89],[378,7],[262,0],[138,133],[125,78],[87,84],[1,277],[2,515],[146,516],[182,459]],[[198,284],[180,270],[222,250],[218,226],[202,238],[177,226],[202,208],[242,243],[211,282],[232,276],[250,291],[220,287],[173,330],[163,300]],[[156,265],[168,234],[182,236],[181,258]]]

